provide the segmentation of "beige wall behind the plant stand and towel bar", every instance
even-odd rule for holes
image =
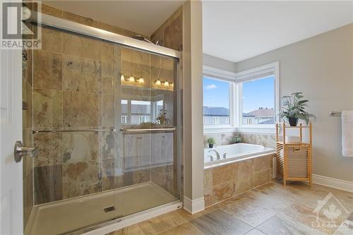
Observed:
[[[353,158],[341,155],[341,122],[353,109],[353,24],[236,64],[237,72],[280,61],[280,95],[302,91],[313,121],[313,174],[353,181]]]

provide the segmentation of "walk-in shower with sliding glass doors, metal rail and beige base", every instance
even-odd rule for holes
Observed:
[[[29,60],[39,155],[32,188],[25,182],[26,234],[70,234],[179,201],[179,52],[42,20],[42,49]]]

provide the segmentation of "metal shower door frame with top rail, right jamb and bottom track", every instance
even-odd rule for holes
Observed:
[[[181,104],[181,88],[182,88],[182,79],[180,77],[180,59],[181,52],[169,49],[167,47],[161,47],[156,44],[151,44],[149,42],[144,42],[140,40],[133,39],[131,37],[126,37],[124,35],[119,35],[114,32],[109,32],[107,30],[101,30],[99,28],[94,28],[88,25],[83,25],[80,23],[75,23],[70,20],[65,20],[62,18],[57,18],[55,16],[49,16],[44,13],[36,13],[38,18],[30,18],[31,23],[35,23],[42,27],[54,28],[56,30],[66,31],[75,33],[77,35],[82,35],[85,37],[91,37],[97,40],[103,40],[104,42],[112,42],[114,44],[119,44],[124,47],[128,47],[131,49],[137,49],[142,52],[148,52],[150,54],[155,54],[157,56],[165,56],[169,58],[175,59],[174,70],[176,76],[176,89],[177,89],[177,126],[175,131],[177,133],[177,190],[179,191],[179,200],[175,200],[172,203],[167,203],[164,205],[159,205],[157,207],[152,207],[147,210],[143,210],[141,212],[136,212],[133,215],[128,215],[126,217],[121,217],[119,219],[114,219],[111,222],[102,222],[102,224],[92,225],[92,227],[85,227],[83,229],[79,229],[75,231],[73,234],[78,232],[83,232],[85,234],[100,234],[101,232],[107,233],[109,231],[114,231],[117,229],[121,229],[122,227],[126,227],[131,224],[136,224],[137,222],[141,222],[145,219],[150,219],[152,217],[156,217],[157,215],[162,215],[166,212],[177,210],[182,207],[182,198],[183,198],[183,189],[181,186],[181,160],[183,159],[183,155],[181,152],[181,143],[182,143],[182,122],[181,122],[181,112],[182,112],[182,104]],[[31,16],[35,16],[36,14],[31,14]],[[37,20],[41,19],[41,20]]]

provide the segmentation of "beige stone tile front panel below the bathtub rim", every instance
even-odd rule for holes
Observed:
[[[205,169],[205,207],[271,181],[273,157],[271,154]]]

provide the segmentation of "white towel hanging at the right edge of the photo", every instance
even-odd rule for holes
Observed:
[[[342,156],[353,157],[353,110],[342,112]]]

